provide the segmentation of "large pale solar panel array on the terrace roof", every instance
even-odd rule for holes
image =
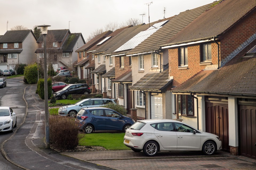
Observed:
[[[135,35],[133,38],[131,38],[129,41],[123,44],[121,47],[116,49],[114,52],[133,49],[134,47],[139,45],[141,42],[143,42],[145,39],[147,39],[150,35],[152,35],[154,32],[159,30],[163,26],[163,24],[165,24],[166,22],[168,22],[168,20],[156,23],[153,26],[149,27],[147,30],[139,32],[137,35]]]

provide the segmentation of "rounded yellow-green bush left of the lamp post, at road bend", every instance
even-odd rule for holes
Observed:
[[[26,79],[28,84],[37,83],[37,64],[30,64],[25,67],[24,78]]]

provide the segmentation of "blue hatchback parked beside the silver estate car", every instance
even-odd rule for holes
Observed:
[[[80,130],[84,130],[85,133],[92,133],[96,130],[125,132],[135,122],[133,119],[105,107],[82,108],[77,113],[75,121],[78,122]]]

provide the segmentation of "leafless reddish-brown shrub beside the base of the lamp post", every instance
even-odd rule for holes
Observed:
[[[74,118],[53,116],[49,117],[50,144],[59,151],[74,149],[78,146],[81,135]]]

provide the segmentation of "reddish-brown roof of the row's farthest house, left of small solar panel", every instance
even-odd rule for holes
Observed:
[[[95,44],[99,43],[101,40],[103,40],[104,38],[106,38],[109,34],[111,34],[113,31],[105,31],[103,33],[101,33],[100,35],[94,37],[93,39],[91,39],[89,42],[87,42],[85,45],[83,45],[82,47],[78,48],[75,52],[79,52],[79,51],[87,51],[88,49],[90,49],[91,47],[93,47]]]

